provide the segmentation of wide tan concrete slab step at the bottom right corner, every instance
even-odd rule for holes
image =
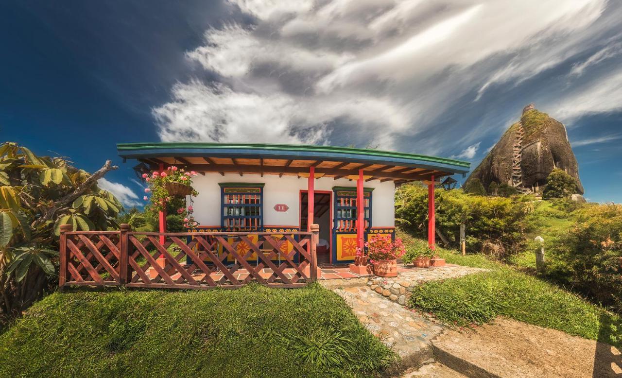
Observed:
[[[437,362],[466,377],[620,377],[620,350],[557,330],[497,318],[432,340]]]

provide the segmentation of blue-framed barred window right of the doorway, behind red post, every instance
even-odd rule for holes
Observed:
[[[335,231],[355,232],[356,219],[356,188],[335,189]],[[371,189],[363,191],[365,229],[371,225]]]

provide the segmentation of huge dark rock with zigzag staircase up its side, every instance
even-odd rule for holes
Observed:
[[[523,109],[521,120],[509,127],[465,185],[476,177],[485,188],[494,181],[507,183],[519,191],[541,193],[554,168],[563,169],[575,178],[578,193],[583,194],[566,127],[529,104]]]

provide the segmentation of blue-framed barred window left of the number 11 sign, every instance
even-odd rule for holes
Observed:
[[[220,225],[226,231],[261,231],[263,184],[219,183],[221,187]]]

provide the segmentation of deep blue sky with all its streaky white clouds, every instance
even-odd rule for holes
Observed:
[[[117,142],[364,145],[473,168],[522,106],[568,128],[585,196],[622,202],[615,1],[4,1],[0,135],[140,203]]]

